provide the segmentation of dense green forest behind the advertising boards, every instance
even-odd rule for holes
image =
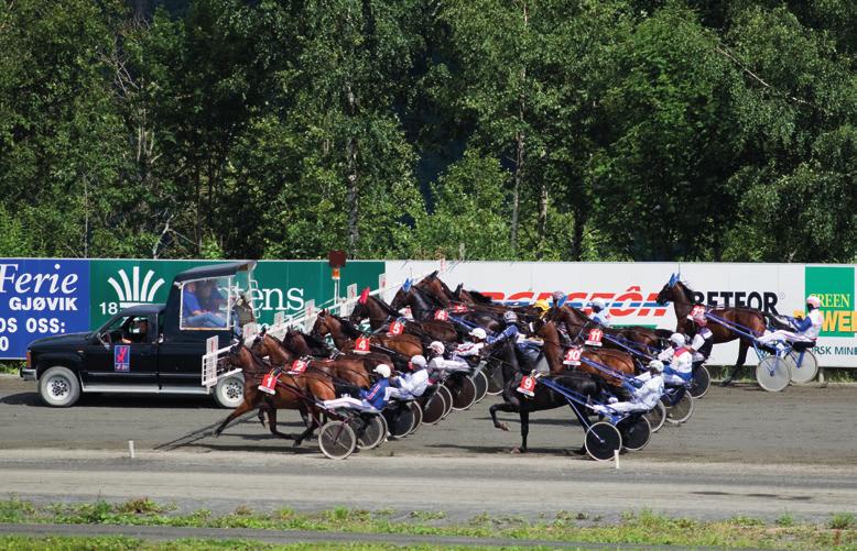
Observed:
[[[0,255],[857,260],[854,0],[3,0]]]

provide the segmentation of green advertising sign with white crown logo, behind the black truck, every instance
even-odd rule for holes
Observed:
[[[132,305],[165,302],[173,277],[185,269],[223,261],[90,261],[90,324],[101,326]],[[350,284],[378,287],[383,262],[349,262],[341,271],[340,295]],[[330,267],[325,261],[260,261],[253,272],[258,288],[251,293],[260,323],[272,323],[278,311],[303,311],[306,301],[322,305],[334,296]]]

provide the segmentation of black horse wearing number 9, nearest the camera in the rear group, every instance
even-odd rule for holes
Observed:
[[[556,346],[557,349],[552,350],[546,354],[553,379],[586,398],[597,396],[600,390],[599,386],[589,375],[578,372],[562,371],[562,353],[558,349],[558,337]],[[525,363],[521,365],[514,350],[514,344],[511,341],[505,341],[501,344],[498,344],[495,350],[491,351],[489,361],[499,362],[503,375],[503,390],[501,394],[503,403],[495,404],[488,409],[491,415],[491,421],[493,422],[495,428],[509,430],[507,423],[500,422],[497,419],[497,412],[517,412],[521,420],[521,447],[512,449],[512,452],[527,452],[527,437],[530,433],[530,414],[568,406],[568,401],[563,395],[544,385],[535,386],[535,396],[532,398],[527,398],[517,390],[518,385],[521,383],[521,378],[523,378],[524,374],[530,373],[532,365],[527,365]],[[585,419],[582,415],[586,415],[586,412],[581,414],[578,409],[582,410],[582,408],[572,408],[577,420],[581,425],[584,425]]]

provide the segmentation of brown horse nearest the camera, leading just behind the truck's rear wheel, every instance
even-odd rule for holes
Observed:
[[[229,365],[239,367],[243,372],[245,378],[245,399],[240,406],[235,408],[229,416],[224,419],[214,436],[219,437],[226,427],[239,416],[256,408],[262,408],[268,412],[271,433],[280,438],[293,439],[294,445],[301,445],[304,439],[310,437],[318,427],[321,411],[315,405],[316,400],[329,400],[336,397],[334,386],[329,377],[321,374],[304,374],[292,376],[281,373],[278,377],[275,394],[268,395],[259,390],[259,383],[262,377],[271,371],[271,365],[264,362],[259,355],[248,349],[243,339],[229,349]],[[276,430],[276,410],[296,409],[302,416],[311,414],[312,421],[307,423],[306,430],[294,438],[290,434]]]

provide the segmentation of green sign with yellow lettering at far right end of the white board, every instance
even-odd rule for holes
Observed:
[[[822,301],[821,337],[854,337],[854,266],[806,266],[804,287]]]

